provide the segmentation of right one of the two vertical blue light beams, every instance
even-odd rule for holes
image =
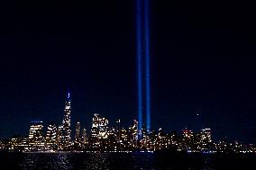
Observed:
[[[146,58],[146,114],[147,132],[151,130],[151,52],[150,52],[150,21],[149,21],[149,0],[144,3],[144,27],[145,27],[145,58]]]

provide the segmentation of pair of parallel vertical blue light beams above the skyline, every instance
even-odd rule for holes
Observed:
[[[137,71],[138,71],[138,129],[142,130],[142,118],[146,115],[146,130],[151,130],[151,55],[149,1],[137,0]],[[141,134],[141,133],[139,133]]]

